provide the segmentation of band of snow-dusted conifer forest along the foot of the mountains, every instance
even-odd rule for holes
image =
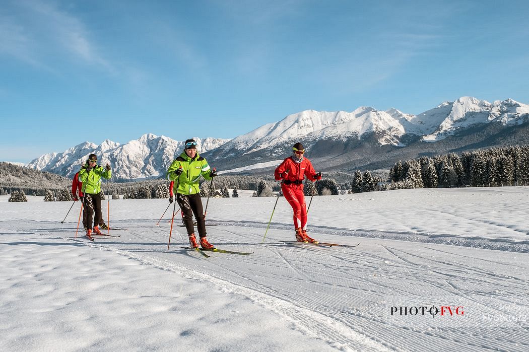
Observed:
[[[529,184],[529,146],[506,146],[485,150],[422,156],[398,161],[389,173],[384,170],[351,173],[324,172],[317,183],[305,180],[307,196],[360,193],[390,189],[464,186],[511,186]],[[220,175],[200,184],[203,197],[238,197],[238,190],[255,190],[256,197],[276,196],[280,182],[272,175]],[[165,179],[135,182],[104,182],[104,193],[112,199],[169,198]],[[230,189],[232,191],[230,192]],[[217,191],[220,190],[220,191]],[[14,194],[17,192],[16,194]],[[0,163],[0,195],[11,194],[10,201],[28,196],[44,196],[46,201],[72,201],[71,180],[49,172]],[[22,197],[23,196],[23,197]],[[102,195],[104,197],[104,195]],[[23,200],[21,200],[23,201]]]

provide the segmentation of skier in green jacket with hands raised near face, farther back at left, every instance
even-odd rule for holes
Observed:
[[[94,224],[101,222],[101,177],[110,180],[112,172],[110,165],[105,168],[97,165],[96,154],[88,155],[88,160],[79,171],[79,181],[83,182],[83,193],[85,193],[83,206],[86,209],[86,237],[92,239],[92,217],[95,215]],[[94,226],[93,233],[101,235],[98,225]]]

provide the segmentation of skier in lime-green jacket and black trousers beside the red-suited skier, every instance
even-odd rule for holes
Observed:
[[[217,175],[217,171],[209,168],[206,159],[198,155],[196,147],[197,142],[195,140],[186,140],[184,152],[172,162],[169,170],[167,170],[167,179],[175,181],[174,192],[176,201],[184,212],[184,224],[189,236],[189,244],[192,248],[198,248],[195,227],[193,226],[194,214],[200,236],[200,246],[204,249],[211,249],[213,245],[206,239],[206,222],[198,181],[200,176],[206,180],[211,180]]]

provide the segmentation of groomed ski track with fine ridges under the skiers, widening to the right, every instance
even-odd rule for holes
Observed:
[[[10,221],[7,221],[10,222]],[[156,221],[154,221],[156,222]],[[338,350],[527,350],[529,323],[484,321],[503,305],[525,307],[529,261],[523,253],[410,243],[367,237],[311,233],[317,239],[356,248],[318,248],[280,243],[292,231],[223,223],[208,228],[216,247],[254,252],[240,256],[199,253],[187,245],[182,229],[152,220],[116,221],[129,228],[119,238],[89,242],[74,238],[72,223],[16,221],[13,228],[61,237],[95,249],[111,251],[188,279],[240,295],[273,311],[309,337],[322,339]],[[442,302],[442,303],[439,303]],[[440,304],[463,306],[465,316],[391,316],[390,307]],[[516,337],[516,338],[514,338]]]

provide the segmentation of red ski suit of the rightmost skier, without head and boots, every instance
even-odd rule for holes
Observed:
[[[288,172],[286,178],[285,172]],[[285,199],[294,209],[294,226],[296,229],[307,229],[307,205],[305,203],[305,194],[303,193],[303,180],[306,176],[307,179],[316,181],[315,175],[316,171],[314,171],[310,160],[303,158],[300,163],[296,163],[292,156],[283,160],[274,172],[276,180],[283,180],[281,182],[281,190]]]

